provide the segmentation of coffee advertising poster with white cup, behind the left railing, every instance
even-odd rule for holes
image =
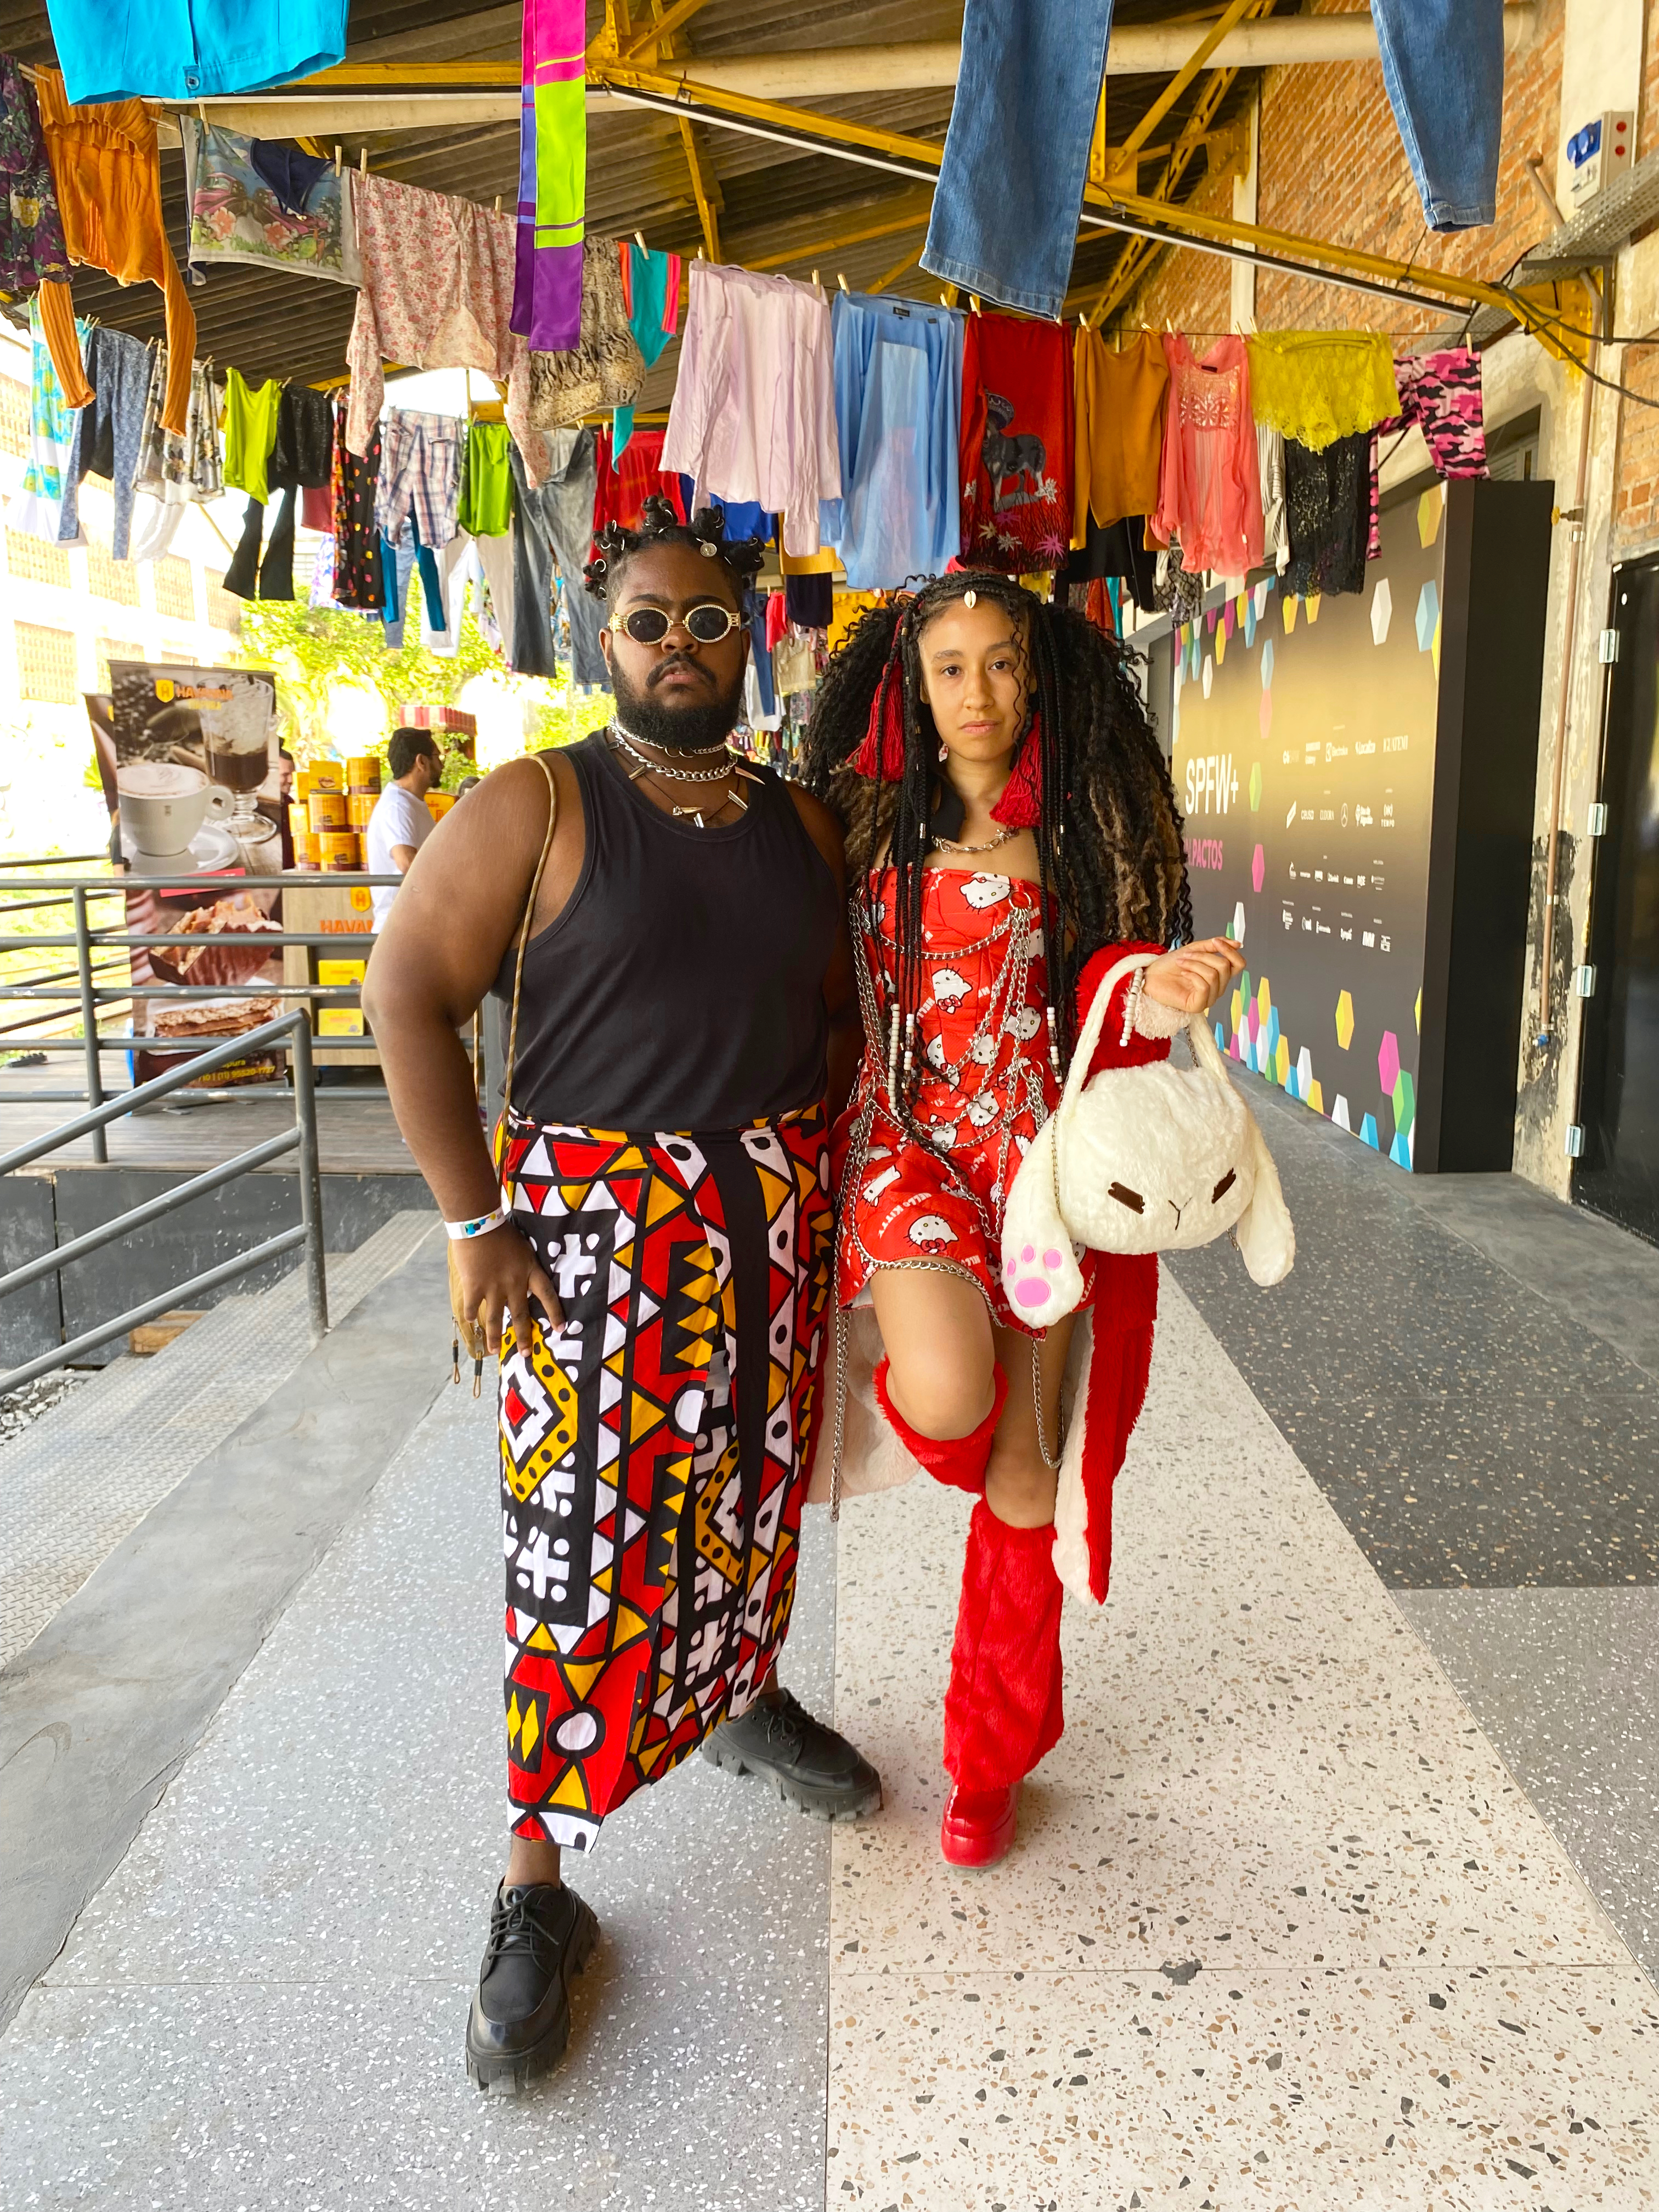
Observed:
[[[274,708],[276,681],[261,670],[111,664],[128,927],[199,940],[133,953],[133,1035],[155,1040],[135,1053],[137,1082],[173,1064],[168,1042],[234,1037],[283,1011],[281,947],[270,945],[281,887],[259,885],[281,872],[276,825],[257,805],[272,783]],[[270,1082],[281,1066],[281,1053],[261,1053],[204,1084]]]

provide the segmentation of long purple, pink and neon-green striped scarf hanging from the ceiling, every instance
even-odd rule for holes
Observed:
[[[582,336],[584,42],[584,0],[524,0],[513,330],[535,354],[568,354]]]

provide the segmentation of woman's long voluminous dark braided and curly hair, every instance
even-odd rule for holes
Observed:
[[[1181,845],[1181,810],[1128,650],[1075,615],[1037,599],[1013,577],[964,568],[914,595],[872,606],[830,661],[807,728],[801,781],[847,834],[847,874],[865,885],[887,858],[896,869],[894,956],[898,1013],[922,998],[922,863],[940,787],[938,730],[920,692],[922,633],[947,606],[975,593],[995,599],[1026,639],[1026,734],[1042,745],[1037,889],[1046,995],[1062,1068],[1075,1042],[1075,984],[1091,953],[1130,938],[1192,940],[1192,894]],[[905,772],[896,783],[860,776],[852,757],[865,741],[883,670],[898,650]],[[1018,759],[1018,752],[1015,752]]]

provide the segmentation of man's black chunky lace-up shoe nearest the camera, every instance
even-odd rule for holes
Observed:
[[[467,2073],[480,2088],[515,2095],[557,2066],[571,2039],[571,1982],[597,1940],[599,1922],[573,1889],[502,1882],[467,2022]]]

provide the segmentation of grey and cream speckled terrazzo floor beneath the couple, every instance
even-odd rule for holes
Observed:
[[[564,2068],[518,2101],[480,2099],[460,2064],[507,1829],[493,1409],[440,1387],[436,1263],[372,1292],[330,1365],[301,1363],[0,1668],[0,1951],[29,1902],[7,1838],[27,1829],[38,1847],[51,1792],[88,1790],[100,1739],[82,1741],[82,1717],[119,1736],[119,1701],[146,1694],[131,1655],[117,1663],[100,1644],[119,1628],[122,1577],[128,1632],[166,1646],[155,1674],[181,1714],[150,1772],[148,1714],[133,1708],[113,1745],[137,1761],[131,1783],[111,1767],[84,1798],[102,1807],[104,1863],[84,1907],[58,1896],[62,1953],[38,1962],[0,2033],[7,2212],[1093,2212],[1128,2205],[1135,2177],[1148,2212],[1646,2203],[1655,2000],[1615,1962],[1624,1938],[1659,1966],[1646,1849],[1659,1823],[1659,1254],[1509,1179],[1407,1177],[1265,1086],[1248,1095],[1283,1168],[1298,1267],[1274,1294],[1228,1250],[1172,1267],[1197,1312],[1170,1296],[1124,1491],[1121,1588],[1106,1615],[1068,1615],[1068,1650],[1095,1657],[1033,1785],[1024,1856],[978,1882],[936,1858],[929,1668],[942,1666],[956,1542],[940,1500],[858,1504],[858,1604],[852,1617],[843,1575],[838,1655],[838,1548],[812,1513],[785,1677],[816,1710],[834,1688],[841,1723],[880,1739],[889,1812],[832,1840],[699,1759],[637,1798],[593,1860],[568,1865],[604,1942]],[[1186,1526],[1172,1500],[1201,1542],[1170,1551],[1168,1531]],[[907,1579],[911,1522],[916,1546],[938,1553],[927,1590]],[[843,1566],[852,1548],[849,1533]],[[1281,1586],[1292,1557],[1305,1601],[1294,1577]],[[1250,1601],[1239,1575],[1259,1584]],[[907,1637],[916,1659],[898,1661]],[[1243,1637],[1261,1639],[1261,1679],[1239,1703]],[[894,1666],[889,1712],[867,1677]],[[1482,1730],[1520,1787],[1484,1745],[1464,1756]],[[1201,1759],[1192,1745],[1212,1739]],[[1429,1792],[1411,1834],[1396,1818],[1409,1787],[1400,1798],[1376,1767],[1389,1759]],[[1429,1761],[1444,1783],[1416,1774]],[[1157,1949],[1146,1986],[1093,1949],[1108,1933],[1124,1960],[1144,1949],[1113,1871],[1117,1820],[1139,1816],[1124,1801],[1148,1823],[1128,1840],[1157,1851],[1141,1907],[1197,1893],[1228,1929],[1206,1942],[1230,1951],[1210,1953],[1181,1918],[1199,1907],[1170,1920],[1172,1955],[1188,1940],[1206,1958],[1192,1991],[1164,1986]],[[1418,1878],[1425,1823],[1440,1858]],[[1480,1851],[1449,1849],[1458,1823],[1486,1838]],[[1327,1851],[1391,1869],[1387,1896],[1367,1878],[1367,1918],[1347,1882],[1321,1902],[1298,1871],[1263,1920],[1256,1860],[1283,1854],[1290,1827],[1307,1829],[1314,1869]],[[1442,1889],[1458,1889],[1453,1913]],[[1540,1955],[1515,1966],[1522,1929]],[[1391,1966],[1349,1986],[1325,1949],[1360,1938]],[[1307,1962],[1303,1942],[1321,1944]],[[1433,1995],[1418,2002],[1409,1962],[1425,1949],[1449,2022]],[[1055,1973],[1062,1951],[1073,1964]],[[1006,2037],[960,2022],[982,1989]],[[1460,2024],[1460,1989],[1471,2020],[1480,2006],[1491,2020]],[[1606,2017],[1604,2042],[1586,2017]],[[1157,2073],[1166,2031],[1181,2062]],[[1230,2035],[1245,2042],[1234,2051]],[[1546,2044],[1573,2044],[1559,2079]],[[995,2112],[984,2084],[1000,2104],[1015,2088],[998,2068],[1026,2062],[1035,2104]],[[1243,2177],[1206,2163],[1206,2068],[1223,2062],[1250,2104]],[[1429,2112],[1442,2079],[1444,2110]],[[1387,2088],[1387,2112],[1367,2084]],[[1586,2135],[1584,2112],[1608,2135]],[[1425,2157],[1440,2130],[1429,2166],[1407,2157],[1413,2126]],[[1489,2179],[1455,2163],[1506,2132],[1513,2152]],[[1303,2185],[1301,2172],[1336,2172],[1332,2141],[1340,2188]],[[1604,2152],[1613,2163],[1597,2168]],[[1590,2166],[1564,2181],[1575,2159]],[[1168,2188],[1152,2188],[1168,2161]],[[1232,2179],[1179,2194],[1201,2170]],[[1276,2197],[1261,2194],[1270,2174]]]

